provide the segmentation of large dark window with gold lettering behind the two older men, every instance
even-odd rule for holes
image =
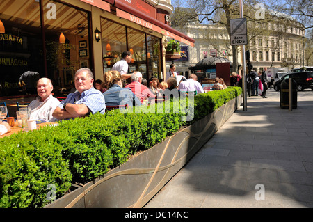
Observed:
[[[1,1],[6,33],[0,34],[0,96],[36,95],[40,77],[53,81],[54,93],[66,93],[76,70],[90,68],[88,13],[51,0],[42,6],[43,21],[39,1]],[[59,42],[61,32],[65,43]]]

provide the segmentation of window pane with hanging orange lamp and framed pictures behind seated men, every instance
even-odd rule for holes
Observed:
[[[90,68],[88,13],[56,1],[43,1],[47,72],[54,86],[70,90],[79,68]],[[65,43],[60,42],[61,33]],[[56,90],[56,93],[57,90]]]

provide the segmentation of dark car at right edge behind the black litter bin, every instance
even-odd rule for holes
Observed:
[[[285,74],[283,77],[278,79],[278,81],[275,81],[274,89],[279,91],[282,81],[289,78],[292,78],[296,81],[298,91],[302,91],[306,88],[311,88],[313,90],[313,72],[294,72]]]

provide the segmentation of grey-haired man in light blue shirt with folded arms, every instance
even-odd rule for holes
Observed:
[[[93,87],[93,72],[88,68],[77,70],[74,77],[76,92],[67,95],[54,110],[53,116],[58,120],[86,116],[89,113],[104,113],[106,104],[104,96]]]

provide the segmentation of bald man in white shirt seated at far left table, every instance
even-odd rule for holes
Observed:
[[[48,78],[41,78],[37,82],[38,97],[29,104],[30,119],[42,120],[45,122],[55,122],[52,116],[56,106],[60,104],[58,99],[52,96],[51,92],[54,90],[51,80]]]

